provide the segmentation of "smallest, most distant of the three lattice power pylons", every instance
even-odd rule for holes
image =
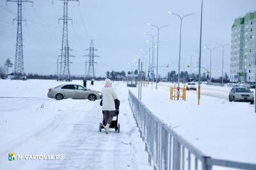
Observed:
[[[89,57],[89,66],[88,66],[88,72],[86,74],[86,77],[87,78],[95,78],[95,69],[94,69],[94,64],[97,64],[97,62],[94,61],[94,58],[99,58],[100,56],[97,56],[94,54],[94,51],[97,50],[94,48],[93,46],[93,40],[91,40],[91,45],[89,47],[89,49],[86,49],[86,50],[89,50],[90,53],[85,55],[86,57]]]

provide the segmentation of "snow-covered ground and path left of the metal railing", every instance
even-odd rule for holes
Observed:
[[[99,100],[47,98],[65,82],[0,80],[0,169],[152,169],[132,117],[128,92],[116,82],[121,100],[120,134],[99,132]],[[82,84],[82,81],[72,83]],[[104,82],[89,86],[100,90]],[[16,155],[62,155],[62,160],[8,161]]]

